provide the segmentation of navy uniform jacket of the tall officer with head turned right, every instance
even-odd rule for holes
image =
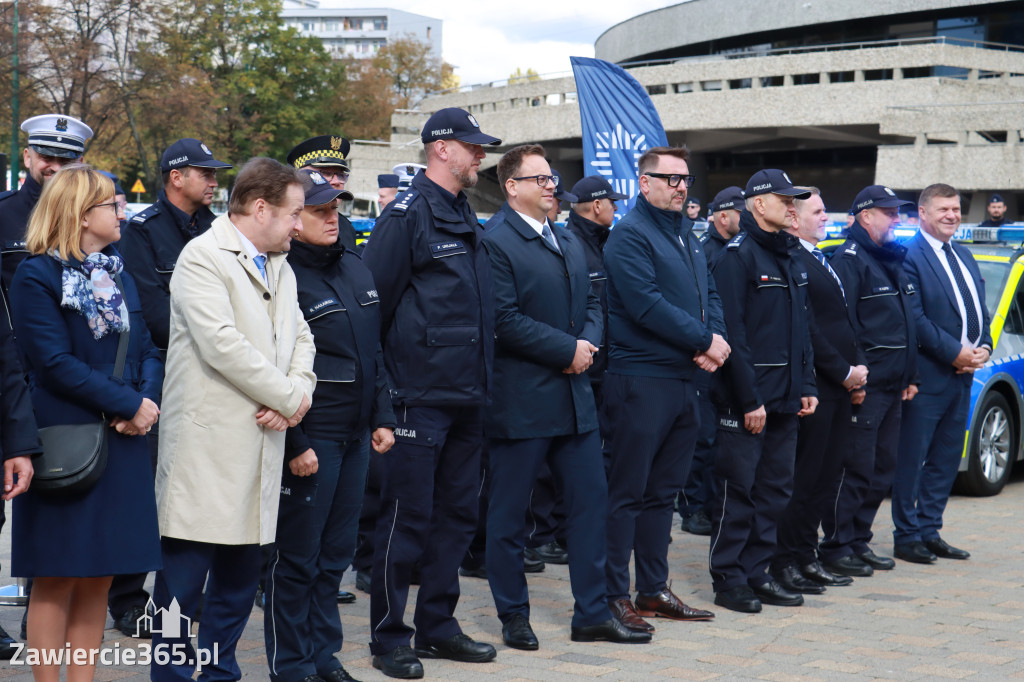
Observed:
[[[426,173],[384,210],[362,260],[381,299],[391,397],[408,406],[482,406],[495,309],[483,230],[465,193]]]

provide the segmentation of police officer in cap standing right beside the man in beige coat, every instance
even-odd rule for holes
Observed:
[[[274,682],[352,677],[335,655],[338,583],[355,551],[371,446],[394,442],[394,412],[380,347],[380,299],[358,254],[338,242],[335,189],[300,171],[302,230],[288,254],[299,307],[313,333],[316,389],[288,430],[278,534],[264,583],[267,665]]]

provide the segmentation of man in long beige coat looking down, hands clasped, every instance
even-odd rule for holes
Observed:
[[[295,169],[251,160],[228,214],[188,243],[171,278],[157,469],[164,568],[153,633],[155,652],[166,644],[184,655],[155,663],[155,682],[191,679],[186,627],[204,585],[198,654],[216,650],[217,660],[200,679],[242,676],[234,646],[252,610],[259,546],[273,542],[288,494],[285,430],[305,415],[315,384],[313,339],[286,260],[303,204]]]

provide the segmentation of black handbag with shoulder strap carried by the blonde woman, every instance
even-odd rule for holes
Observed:
[[[115,275],[118,288],[124,292],[121,278]],[[121,332],[118,339],[118,357],[114,364],[114,377],[122,379],[125,358],[128,355],[128,332]],[[31,487],[48,495],[83,493],[99,480],[106,468],[106,433],[110,422],[89,424],[56,424],[39,429],[43,454],[34,458],[35,473]]]

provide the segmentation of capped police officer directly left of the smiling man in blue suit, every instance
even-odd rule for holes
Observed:
[[[864,393],[854,392],[852,447],[834,509],[821,522],[818,547],[830,572],[866,578],[896,562],[871,550],[871,524],[896,470],[904,400],[918,393],[918,339],[910,298],[916,288],[903,271],[906,249],[895,240],[899,208],[911,202],[889,187],[861,189],[850,209],[854,223],[829,263],[843,282],[857,341],[870,376]]]

